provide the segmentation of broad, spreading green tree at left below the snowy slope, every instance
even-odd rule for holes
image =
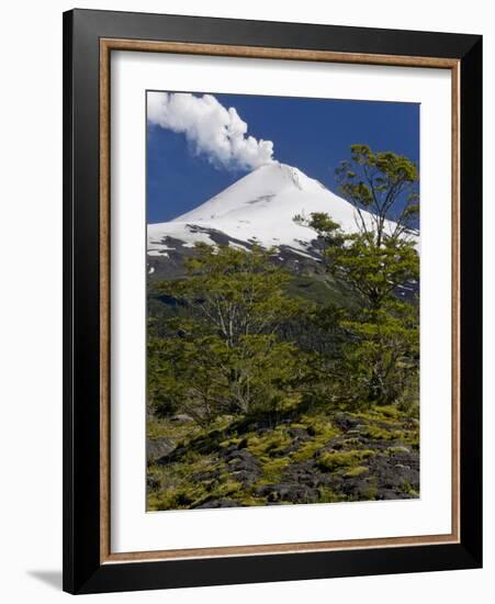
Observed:
[[[299,312],[284,293],[290,277],[271,250],[198,245],[188,275],[161,293],[187,304],[167,322],[169,337],[149,340],[149,396],[199,424],[220,414],[277,411],[297,398],[299,353],[277,335]],[[159,396],[157,396],[159,392]]]

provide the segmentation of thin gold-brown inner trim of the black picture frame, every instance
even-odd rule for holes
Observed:
[[[266,58],[387,65],[449,69],[452,79],[452,526],[447,535],[420,535],[372,539],[348,539],[271,545],[249,545],[112,552],[110,540],[110,55],[112,51],[172,53],[244,58]],[[295,48],[267,48],[184,42],[142,40],[100,40],[100,562],[119,563],[144,560],[178,560],[336,551],[344,549],[391,548],[460,543],[460,61],[437,57],[367,55]]]

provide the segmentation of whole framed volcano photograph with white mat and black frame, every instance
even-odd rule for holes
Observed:
[[[64,589],[482,564],[482,38],[64,15]]]

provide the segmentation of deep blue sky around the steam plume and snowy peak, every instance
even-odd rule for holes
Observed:
[[[194,92],[195,96],[203,94]],[[338,192],[334,170],[355,143],[392,150],[419,164],[419,105],[216,94],[247,123],[247,135],[273,143],[273,157]],[[218,166],[196,153],[181,132],[147,125],[148,223],[171,220],[218,193],[250,169]]]

